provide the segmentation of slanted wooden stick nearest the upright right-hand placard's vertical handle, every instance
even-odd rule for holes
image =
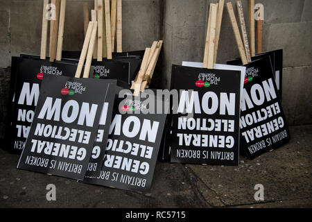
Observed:
[[[231,20],[231,24],[232,24],[236,44],[239,48],[239,54],[241,56],[241,60],[243,62],[243,65],[246,65],[248,61],[246,58],[243,42],[241,41],[241,34],[239,33],[239,26],[237,26],[237,22],[236,22],[233,6],[231,2],[227,3],[227,12],[229,13],[229,19]]]

